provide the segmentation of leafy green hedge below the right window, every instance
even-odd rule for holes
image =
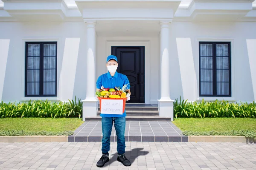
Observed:
[[[174,102],[174,115],[177,117],[256,117],[256,103],[253,101],[248,104],[247,102],[241,103],[229,103],[227,101],[215,102],[187,102],[187,100],[178,103],[175,99]]]

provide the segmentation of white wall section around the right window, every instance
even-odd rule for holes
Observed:
[[[171,98],[199,98],[198,40],[231,41],[232,97],[236,101],[256,100],[256,23],[173,22],[171,24]],[[204,97],[204,99],[217,99]]]

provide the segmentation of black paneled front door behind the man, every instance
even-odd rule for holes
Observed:
[[[117,57],[117,72],[129,79],[131,100],[127,102],[145,103],[145,47],[112,46],[111,54]]]

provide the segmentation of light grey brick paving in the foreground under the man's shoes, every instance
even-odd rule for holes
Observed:
[[[101,142],[0,143],[0,170],[255,170],[256,144],[192,142],[126,142],[124,167],[111,161],[96,167]]]

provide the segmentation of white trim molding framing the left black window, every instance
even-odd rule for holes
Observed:
[[[56,97],[26,97],[25,96],[25,48],[26,48],[26,42],[47,42],[47,41],[56,41],[57,42],[57,77],[56,77],[56,82],[57,82],[57,89],[56,89]],[[20,101],[29,101],[31,100],[49,100],[49,101],[60,101],[60,91],[61,91],[61,79],[60,79],[60,73],[61,73],[61,63],[60,63],[60,54],[59,51],[61,45],[61,39],[56,38],[56,37],[51,37],[51,38],[45,38],[45,37],[29,37],[29,38],[22,38],[21,39],[21,65],[22,65],[22,70],[21,70],[21,90],[20,90]]]

